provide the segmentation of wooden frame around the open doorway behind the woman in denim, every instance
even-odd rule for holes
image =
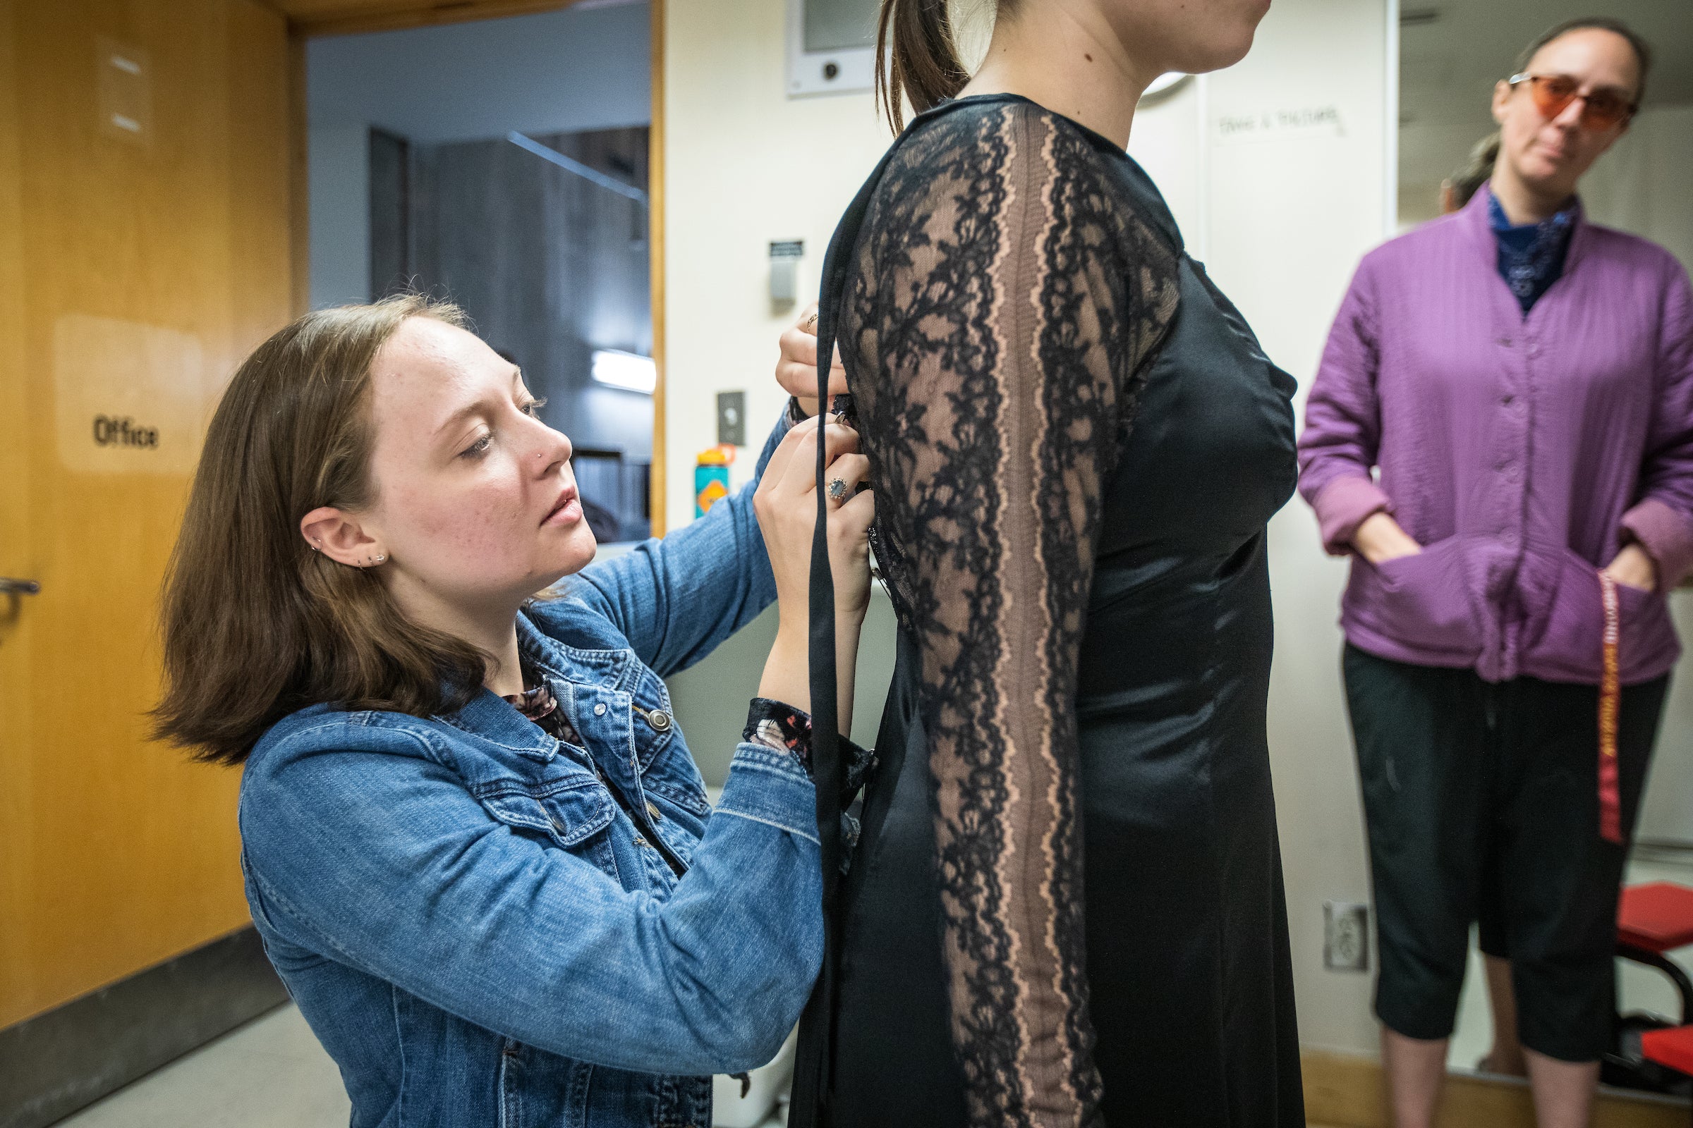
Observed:
[[[410,7],[394,7],[372,14],[318,15],[288,20],[288,71],[290,71],[290,184],[288,210],[291,232],[290,279],[295,316],[312,304],[312,208],[310,178],[306,169],[306,41],[320,36],[349,36],[356,32],[401,30],[437,24],[469,24],[505,15],[532,15],[569,8],[576,0],[477,0],[438,7],[438,0],[405,0]],[[664,5],[665,0],[647,0],[650,12],[652,51],[652,125],[647,130],[647,247],[648,289],[652,304],[652,362],[659,384],[652,392],[652,480],[648,509],[652,534],[665,531],[665,348],[664,348]],[[276,5],[281,7],[281,5]]]

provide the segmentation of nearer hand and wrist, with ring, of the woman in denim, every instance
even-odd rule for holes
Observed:
[[[858,453],[858,433],[841,423],[819,428],[816,418],[791,430],[764,468],[753,511],[764,533],[770,572],[775,573],[779,626],[775,646],[764,668],[758,695],[811,710],[809,622],[811,622],[811,539],[818,517],[818,433],[823,433],[824,480],[840,482],[840,501],[830,499],[830,570],[835,577],[835,663],[838,675],[840,731],[852,727],[853,670],[858,661],[858,629],[870,605],[870,521],[875,501],[870,490],[857,492],[870,474],[870,460]]]

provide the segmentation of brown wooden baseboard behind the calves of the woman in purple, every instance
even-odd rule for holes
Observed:
[[[1331,1050],[1300,1052],[1305,1120],[1334,1128],[1392,1128],[1381,1062]],[[1625,1089],[1600,1089],[1593,1128],[1686,1128],[1688,1103]],[[1536,1128],[1527,1081],[1454,1072],[1446,1079],[1439,1128]]]

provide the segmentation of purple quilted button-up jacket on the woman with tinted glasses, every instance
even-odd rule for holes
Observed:
[[[1365,255],[1310,389],[1299,489],[1331,553],[1383,509],[1424,545],[1353,558],[1341,626],[1359,649],[1598,683],[1598,568],[1632,539],[1661,589],[1693,570],[1693,291],[1663,247],[1578,216],[1524,315],[1493,238],[1483,188]],[[1664,597],[1622,589],[1622,680],[1678,656]]]

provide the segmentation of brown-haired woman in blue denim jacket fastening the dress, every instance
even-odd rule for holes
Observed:
[[[462,325],[415,296],[323,309],[235,374],[166,592],[161,731],[245,764],[252,918],[356,1126],[706,1128],[708,1074],[777,1052],[823,949],[819,430],[784,421],[757,489],[584,568],[571,443]],[[853,433],[823,435],[850,671],[872,502]],[[711,812],[660,678],[772,599]],[[843,678],[841,727],[850,702]]]

